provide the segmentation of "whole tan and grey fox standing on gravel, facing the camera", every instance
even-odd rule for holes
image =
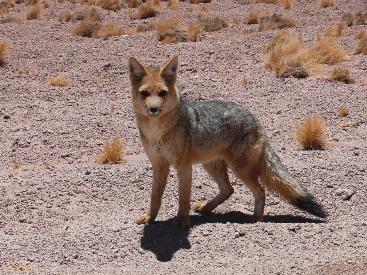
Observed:
[[[192,165],[195,164],[203,166],[219,189],[209,202],[193,203],[196,213],[211,212],[234,193],[228,177],[231,170],[255,198],[248,223],[264,220],[264,187],[299,209],[326,218],[324,207],[281,163],[260,122],[250,111],[230,102],[195,102],[182,98],[176,84],[178,65],[177,55],[163,66],[144,66],[134,56],[128,58],[132,107],[153,170],[150,206],[136,223],[155,222],[170,166],[174,166],[178,176],[178,212],[173,225],[189,227]]]

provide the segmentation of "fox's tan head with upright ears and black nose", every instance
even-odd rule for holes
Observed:
[[[129,57],[132,104],[135,112],[157,117],[169,113],[180,100],[176,87],[178,56],[161,67],[145,67],[138,59]]]

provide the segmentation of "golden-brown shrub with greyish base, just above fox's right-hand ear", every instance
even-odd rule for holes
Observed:
[[[179,19],[171,17],[157,24],[157,40],[161,41],[162,44],[184,42],[189,40],[189,35]]]

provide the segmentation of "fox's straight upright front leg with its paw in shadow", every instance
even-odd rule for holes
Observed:
[[[173,220],[176,228],[185,228],[190,226],[190,195],[191,195],[191,164],[177,167],[178,176],[178,213]]]

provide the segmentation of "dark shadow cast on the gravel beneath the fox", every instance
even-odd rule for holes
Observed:
[[[246,224],[250,216],[240,211],[228,213],[209,213],[203,215],[190,215],[191,225],[203,223],[239,223]],[[292,215],[264,216],[264,223],[324,223],[322,220],[304,218]],[[190,249],[188,240],[189,228],[177,229],[173,227],[173,218],[166,221],[157,221],[153,224],[146,224],[143,229],[143,236],[140,239],[140,246],[144,250],[152,251],[158,261],[170,261],[175,252],[179,249]]]

